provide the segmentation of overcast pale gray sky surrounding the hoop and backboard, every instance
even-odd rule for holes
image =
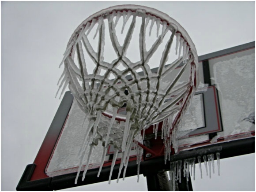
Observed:
[[[15,190],[33,163],[61,100],[58,66],[76,27],[113,5],[165,12],[187,30],[198,55],[255,41],[255,2],[1,2],[1,184]],[[193,182],[194,190],[255,190],[255,154],[221,159],[221,176]],[[198,169],[197,169],[198,171]],[[199,172],[197,172],[198,175]],[[77,190],[147,190],[145,179]],[[71,190],[76,190],[72,188]]]

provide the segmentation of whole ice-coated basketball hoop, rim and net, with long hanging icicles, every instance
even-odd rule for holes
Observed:
[[[68,85],[85,113],[81,126],[87,134],[75,182],[89,151],[84,179],[99,141],[104,146],[102,165],[109,145],[115,148],[111,170],[117,153],[123,153],[118,179],[123,167],[124,178],[132,143],[143,143],[143,133],[151,125],[156,125],[157,134],[162,121],[166,159],[171,145],[177,152],[175,133],[198,84],[198,62],[193,42],[173,18],[135,5],[99,11],[72,34],[63,63],[60,95]],[[141,156],[137,146],[138,164]]]

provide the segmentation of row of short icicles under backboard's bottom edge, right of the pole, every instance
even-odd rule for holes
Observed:
[[[214,154],[203,155],[203,162],[206,170],[206,175],[211,178],[211,169],[213,174],[215,173],[215,164],[214,164]],[[218,175],[220,175],[220,153],[216,153],[217,159],[217,168],[218,168]],[[201,156],[197,157],[198,165],[200,169],[201,178],[203,178],[202,173],[202,164],[201,164]],[[207,166],[208,162],[208,166]],[[196,158],[191,159],[184,159],[183,160],[183,177],[186,177],[187,181],[189,180],[189,174],[193,176],[193,180],[195,180],[195,168],[196,168]],[[181,170],[182,170],[182,160],[178,160],[175,162],[170,162],[170,181],[174,187],[173,191],[175,191],[175,182],[176,178],[177,181],[181,183]],[[209,172],[208,172],[209,171]]]

